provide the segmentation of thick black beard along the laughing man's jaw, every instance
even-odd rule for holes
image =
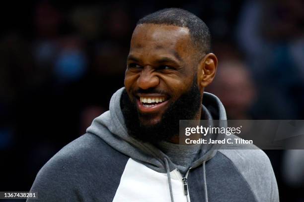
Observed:
[[[179,134],[179,120],[194,119],[201,106],[201,93],[195,76],[189,91],[171,103],[161,121],[151,126],[141,123],[136,104],[130,100],[126,89],[122,93],[120,105],[128,134],[142,142],[156,144],[160,141],[169,141]]]

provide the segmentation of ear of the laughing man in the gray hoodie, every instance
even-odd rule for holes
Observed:
[[[218,58],[214,53],[206,54],[199,63],[197,79],[200,91],[203,92],[213,81],[218,66]]]

